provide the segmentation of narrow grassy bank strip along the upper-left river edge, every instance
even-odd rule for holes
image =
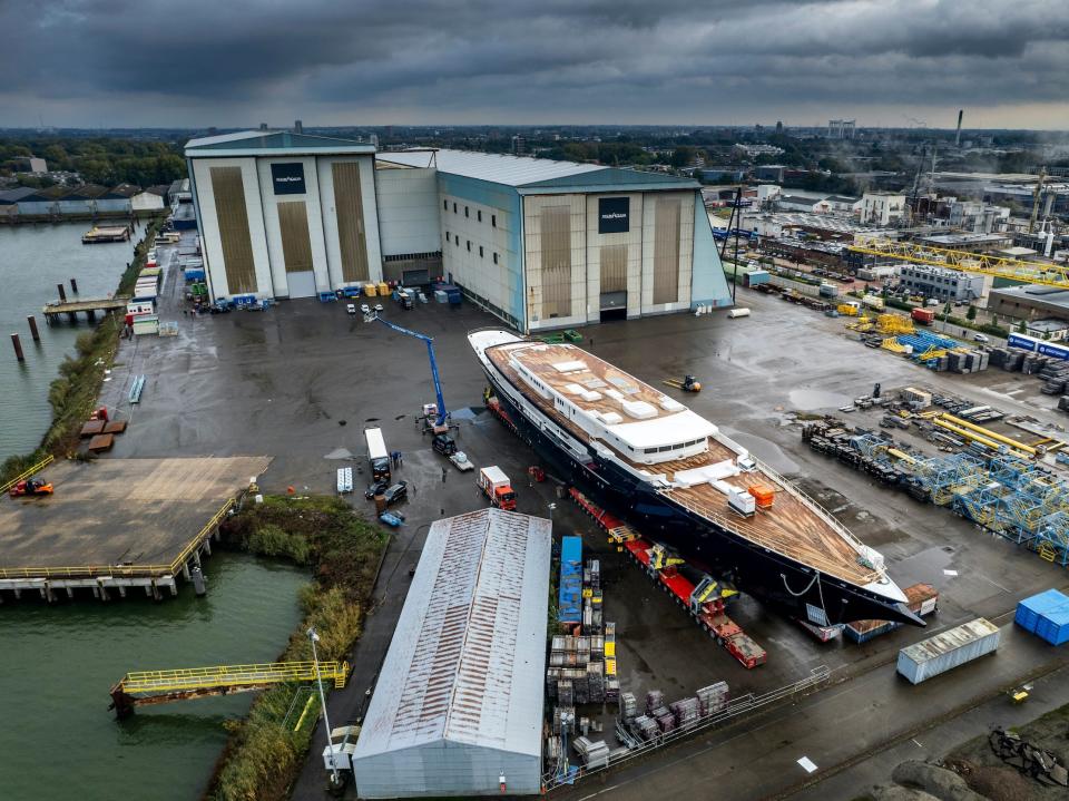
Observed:
[[[145,229],[145,240],[134,248],[134,261],[119,280],[119,294],[134,289],[137,275],[145,265],[145,255],[163,217],[156,217]],[[124,290],[124,286],[128,289]],[[31,453],[12,456],[0,465],[0,483],[4,483],[23,470],[51,455],[57,459],[69,458],[78,449],[81,424],[97,404],[104,385],[104,371],[115,363],[122,331],[122,315],[109,313],[94,328],[78,335],[75,354],[68,355],[59,365],[59,375],[48,388],[48,402],[52,407],[52,424],[41,443]]]

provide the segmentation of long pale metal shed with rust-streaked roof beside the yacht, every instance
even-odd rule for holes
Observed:
[[[361,798],[540,791],[550,535],[500,509],[431,527],[352,756]]]

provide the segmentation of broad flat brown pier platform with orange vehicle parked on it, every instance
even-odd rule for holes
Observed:
[[[99,600],[140,588],[157,600],[178,578],[204,593],[202,556],[267,457],[104,459],[49,466],[55,495],[0,500],[0,603]]]

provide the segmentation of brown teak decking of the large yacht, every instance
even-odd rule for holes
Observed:
[[[590,353],[572,345],[530,343],[530,346],[537,348],[538,350],[526,352],[522,359],[523,364],[534,372],[539,379],[550,384],[555,390],[566,395],[577,406],[590,411],[615,411],[620,413],[626,421],[634,422],[634,420],[629,420],[621,413],[618,404],[610,398],[602,397],[601,400],[590,402],[570,394],[565,387],[570,383],[583,385],[581,378],[586,375],[586,373],[560,373],[552,367],[555,363],[582,361],[587,365],[587,370],[596,379],[604,381],[608,388],[620,390],[619,385],[608,380],[610,378],[617,378],[630,384],[635,388],[635,392],[625,394],[631,400],[646,401],[657,410],[658,417],[674,413],[666,412],[660,408],[659,402],[660,398],[664,397],[663,392],[653,389],[643,381],[618,370]],[[531,391],[523,379],[517,373],[516,369],[511,367],[509,363],[509,353],[517,348],[518,345],[508,343],[488,348],[486,353],[494,367],[509,379],[510,383],[512,383],[528,401],[536,404],[542,412],[557,422],[558,426],[568,430],[576,439],[581,442],[591,441],[590,434],[561,416],[551,401]],[[522,345],[520,345],[520,348],[524,351],[528,350]],[[579,380],[577,380],[577,378]],[[596,391],[605,395],[605,388],[598,388]],[[620,391],[622,392],[622,390]],[[601,445],[610,447],[605,442]],[[716,465],[727,459],[735,459],[737,456],[735,451],[715,437],[708,439],[708,451],[705,453],[685,459],[664,461],[657,465],[640,465],[620,455],[616,449],[612,449],[612,451],[619,459],[636,470],[645,470],[650,475],[665,473],[669,481],[673,480],[676,472],[681,470],[693,470],[706,465]],[[827,520],[803,501],[795,488],[786,485],[778,478],[774,478],[762,467],[758,466],[756,472],[744,472],[725,480],[742,489],[746,489],[753,485],[769,487],[775,490],[775,501],[768,509],[758,508],[754,517],[747,519],[734,512],[727,505],[726,496],[708,483],[687,488],[668,487],[660,489],[659,492],[681,506],[692,509],[702,517],[745,537],[755,545],[766,547],[769,550],[787,556],[804,565],[815,567],[822,573],[860,586],[881,578],[879,573],[865,567],[857,560],[859,554],[854,550],[853,546],[846,541],[844,536]],[[798,590],[801,588],[794,587],[793,589]]]

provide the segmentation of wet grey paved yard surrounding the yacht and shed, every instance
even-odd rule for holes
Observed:
[[[179,291],[169,279],[165,310]],[[533,453],[483,410],[486,382],[465,339],[470,329],[496,326],[498,321],[467,303],[459,309],[432,303],[404,312],[383,302],[390,320],[435,338],[459,447],[477,467],[499,465],[512,477],[520,511],[552,515],[556,536],[580,533],[588,549],[605,560],[606,616],[618,624],[625,691],[644,695],[656,687],[674,700],[719,680],[735,693],[764,692],[818,665],[831,667],[836,677],[874,667],[893,672],[889,663],[903,645],[978,615],[1006,623],[1019,598],[1067,584],[1062,568],[1034,554],[811,451],[790,414],[798,409],[834,412],[879,381],[885,392],[923,383],[1058,422],[1061,413],[1052,410],[1052,399],[1039,394],[1036,379],[1001,371],[932,373],[850,341],[841,321],[756,293],[741,297],[741,304],[754,310],[748,319],[671,315],[583,329],[583,348],[653,385],[667,377],[696,375],[704,388],[700,394],[668,392],[776,470],[798,478],[862,541],[884,554],[900,586],[925,582],[940,590],[940,610],[930,618],[928,632],[903,628],[861,646],[840,639],[818,643],[796,623],[766,614],[744,597],[730,614],[768,652],[766,665],[746,671],[607,545],[588,518],[558,499],[551,481],[528,486]],[[333,492],[337,467],[355,468],[357,489],[366,480],[365,426],[382,427],[388,448],[404,455],[396,477],[410,482],[409,500],[399,507],[408,521],[394,536],[376,588],[374,617],[382,619],[370,623],[359,646],[352,692],[346,688],[331,701],[335,725],[335,715],[355,717],[430,522],[483,502],[474,475],[462,475],[432,453],[415,423],[421,404],[433,400],[426,350],[416,340],[347,315],[342,303],[283,302],[265,313],[197,319],[179,311],[177,320],[178,336],[143,338],[120,353],[121,364],[107,385],[109,402],[129,409],[124,388],[130,377],[144,373],[147,381],[130,428],[117,441],[116,457],[265,453],[274,457],[261,479],[265,491],[294,487]],[[1019,383],[1024,391],[1007,394]],[[346,456],[344,451],[353,458],[337,458]],[[360,494],[352,502],[371,510]],[[552,511],[550,504],[556,504]],[[383,631],[375,634],[375,627]],[[982,681],[982,671],[978,676]],[[310,763],[308,771],[314,778],[320,769]]]

